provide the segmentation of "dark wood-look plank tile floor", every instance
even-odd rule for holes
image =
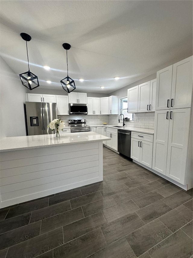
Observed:
[[[103,182],[1,209],[0,258],[192,257],[192,189],[103,157]]]

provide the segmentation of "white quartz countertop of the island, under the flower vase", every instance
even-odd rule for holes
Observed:
[[[0,152],[37,149],[59,145],[70,145],[87,142],[102,142],[111,138],[95,132],[73,132],[61,134],[59,138],[55,134],[6,137],[0,140]]]

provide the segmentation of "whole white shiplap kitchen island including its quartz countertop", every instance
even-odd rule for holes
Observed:
[[[103,180],[103,141],[94,132],[0,140],[0,208]]]

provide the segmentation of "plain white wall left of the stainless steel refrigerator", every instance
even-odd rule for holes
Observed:
[[[24,102],[27,88],[0,57],[0,139],[26,135]],[[22,72],[22,71],[21,71]]]

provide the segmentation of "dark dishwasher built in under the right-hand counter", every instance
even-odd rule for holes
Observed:
[[[128,158],[131,156],[131,131],[118,129],[118,152]]]

